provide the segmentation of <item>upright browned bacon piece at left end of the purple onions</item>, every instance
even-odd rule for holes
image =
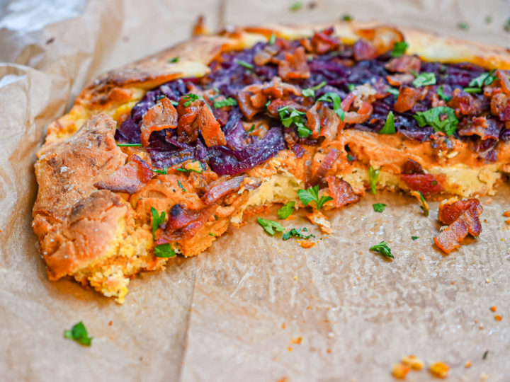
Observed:
[[[149,137],[152,132],[163,129],[175,129],[177,127],[177,110],[169,98],[162,98],[156,105],[145,113],[140,130],[140,143],[146,147],[149,145]]]

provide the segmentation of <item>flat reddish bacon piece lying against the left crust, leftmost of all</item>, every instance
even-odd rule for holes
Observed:
[[[104,190],[135,194],[152,179],[152,175],[149,164],[140,156],[133,155],[127,164],[96,183],[95,186]]]

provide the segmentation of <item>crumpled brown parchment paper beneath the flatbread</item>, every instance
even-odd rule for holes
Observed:
[[[0,61],[9,63],[0,65],[1,381],[392,381],[392,364],[408,354],[447,362],[450,381],[509,380],[507,185],[482,198],[480,238],[446,257],[431,245],[437,203],[425,218],[414,199],[378,192],[329,213],[329,237],[302,217],[285,221],[322,238],[307,250],[250,219],[206,253],[133,279],[123,306],[47,280],[30,226],[45,127],[101,71],[186,40],[199,13],[213,30],[348,13],[510,44],[505,0],[313,3],[297,12],[280,0],[0,4]],[[382,240],[394,261],[368,250]],[[63,338],[80,320],[90,348]],[[412,371],[407,381],[430,378]]]

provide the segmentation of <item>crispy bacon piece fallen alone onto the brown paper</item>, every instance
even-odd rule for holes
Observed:
[[[448,200],[439,206],[438,219],[448,228],[433,238],[434,243],[445,253],[460,247],[460,241],[470,233],[480,235],[482,224],[479,216],[483,208],[478,199]]]

